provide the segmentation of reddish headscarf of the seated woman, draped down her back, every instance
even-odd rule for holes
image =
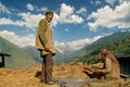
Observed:
[[[100,58],[108,58],[110,59],[114,63],[116,63],[119,66],[118,61],[116,60],[116,58],[106,49],[102,49],[101,52],[99,53]]]

